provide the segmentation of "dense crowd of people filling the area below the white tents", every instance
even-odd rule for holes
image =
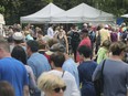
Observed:
[[[127,95],[126,23],[73,24],[67,32],[63,25],[50,24],[43,32],[14,24],[6,31],[0,36],[1,96],[97,96],[94,82],[102,76],[104,96]]]

